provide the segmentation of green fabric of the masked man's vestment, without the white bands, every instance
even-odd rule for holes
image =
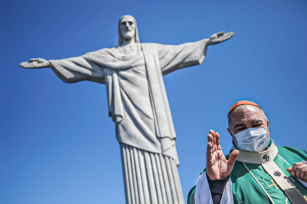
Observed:
[[[270,143],[272,144],[271,139]],[[307,200],[307,188],[286,171],[295,162],[307,161],[307,152],[285,146],[277,149],[278,154],[273,161]],[[226,156],[228,158],[229,155]],[[204,171],[205,169],[201,174]],[[262,164],[236,161],[230,179],[234,203],[291,203]],[[194,203],[195,188],[194,186],[188,194],[188,204]]]

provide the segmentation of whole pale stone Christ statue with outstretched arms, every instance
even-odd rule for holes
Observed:
[[[126,203],[185,203],[173,119],[163,75],[201,64],[207,46],[230,39],[219,32],[180,45],[140,43],[134,17],[119,20],[119,46],[60,60],[30,59],[25,68],[51,67],[72,83],[106,84],[109,116],[120,144]]]

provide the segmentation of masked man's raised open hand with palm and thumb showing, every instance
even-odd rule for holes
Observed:
[[[220,134],[209,131],[207,146],[207,167],[206,172],[211,180],[227,178],[239,155],[238,150],[233,150],[227,160],[220,145]]]

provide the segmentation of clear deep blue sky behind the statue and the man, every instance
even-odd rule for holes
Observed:
[[[29,58],[62,59],[118,43],[124,14],[141,42],[180,44],[220,31],[202,65],[164,77],[186,198],[205,167],[206,136],[228,152],[227,111],[253,100],[277,145],[307,149],[306,1],[6,1],[1,6],[0,203],[124,203],[105,85],[65,84]]]

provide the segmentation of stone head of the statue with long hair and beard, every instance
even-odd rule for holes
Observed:
[[[140,42],[138,38],[138,27],[133,16],[124,15],[119,19],[118,37],[119,45],[122,45],[124,40],[129,41],[132,38],[134,38],[136,43]]]

